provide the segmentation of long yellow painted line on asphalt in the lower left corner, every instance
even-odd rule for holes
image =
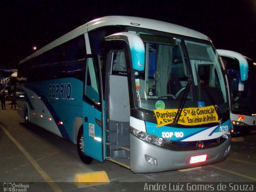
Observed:
[[[0,125],[2,130],[6,133],[6,135],[16,144],[16,146],[20,149],[20,151],[28,158],[30,163],[34,166],[34,168],[38,171],[38,173],[44,178],[46,182],[50,185],[50,187],[54,191],[62,191],[60,187],[54,183],[54,181],[48,176],[46,172],[39,166],[39,164],[32,158],[32,156],[22,147],[22,145],[4,128],[4,126]]]

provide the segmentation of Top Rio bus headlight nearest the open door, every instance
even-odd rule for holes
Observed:
[[[137,138],[139,138],[143,141],[146,141],[150,144],[154,144],[156,146],[162,146],[166,143],[171,142],[171,140],[167,140],[167,139],[164,139],[162,137],[158,137],[158,136],[155,136],[155,135],[152,135],[152,134],[148,134],[148,133],[139,131],[137,129],[134,129],[133,127],[130,127],[130,133],[132,135],[136,136]]]

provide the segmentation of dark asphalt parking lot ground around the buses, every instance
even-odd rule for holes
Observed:
[[[247,184],[254,186],[253,190],[256,188],[256,134],[253,133],[232,139],[230,154],[223,162],[185,170],[134,174],[109,161],[83,164],[76,145],[37,126],[25,126],[17,111],[10,109],[10,103],[6,106],[7,110],[0,110],[0,191],[7,189],[8,185],[19,190],[26,189],[27,192],[168,191],[163,186],[159,187],[161,184],[174,184],[176,188],[172,188],[173,191],[178,187],[182,191],[181,185],[185,182],[216,184],[216,188],[213,186],[211,189],[214,190],[209,191],[220,191],[217,185],[222,182],[224,185],[231,184],[231,187],[233,183],[245,182],[243,186]],[[86,187],[78,187],[74,183],[76,174],[98,171],[106,172],[110,183]],[[152,185],[155,188],[149,188],[148,183],[156,184]],[[232,189],[236,191],[236,188]]]

